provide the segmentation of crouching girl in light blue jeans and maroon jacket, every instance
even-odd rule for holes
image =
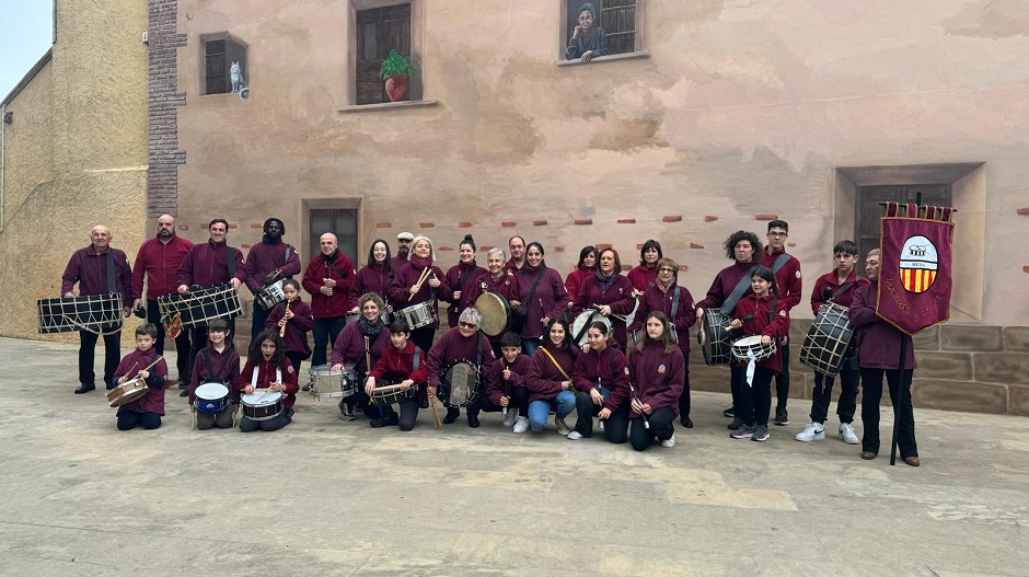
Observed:
[[[539,432],[546,428],[554,412],[557,434],[567,437],[571,429],[565,417],[576,408],[571,373],[579,349],[571,344],[571,327],[564,315],[546,326],[547,338],[532,357],[525,388],[529,389],[529,427]]]

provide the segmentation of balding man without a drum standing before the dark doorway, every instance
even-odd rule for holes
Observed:
[[[350,289],[354,288],[354,262],[339,252],[338,241],[332,232],[319,238],[321,252],[311,258],[303,272],[303,289],[311,295],[314,314],[314,351],[311,363],[325,365],[325,348],[335,343],[350,312]]]

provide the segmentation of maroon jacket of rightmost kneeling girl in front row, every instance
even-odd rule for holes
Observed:
[[[628,378],[636,388],[636,396],[655,411],[668,407],[679,416],[679,395],[685,377],[686,363],[678,348],[664,353],[660,343],[651,341],[641,353],[633,347],[628,355]],[[639,416],[635,411],[629,412],[629,418]]]

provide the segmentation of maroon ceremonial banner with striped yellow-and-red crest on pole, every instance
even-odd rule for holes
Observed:
[[[913,335],[950,318],[953,222],[950,208],[907,205],[898,216],[897,203],[887,203],[879,254],[879,300],[876,313]]]

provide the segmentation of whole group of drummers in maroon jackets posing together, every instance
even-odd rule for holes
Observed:
[[[231,391],[223,413],[198,414],[199,428],[234,426],[241,396],[258,391],[279,393],[284,409],[262,420],[244,415],[241,429],[286,426],[300,391],[301,362],[310,358],[313,366],[347,368],[358,376],[361,386],[339,403],[342,418],[354,420],[363,413],[373,427],[411,430],[430,399],[439,395],[447,402],[454,394],[448,369],[465,363],[474,368],[478,394],[449,403],[446,424],[456,420],[461,407],[470,427],[479,426],[482,412],[502,412],[504,425],[524,434],[545,429],[554,413],[557,431],[573,440],[592,436],[596,417],[611,442],[628,440],[637,450],[655,442],[672,447],[677,419],[682,427],[693,427],[687,335],[705,309],[719,310],[735,337],[756,335],[761,346],[775,345],[774,354],[759,362],[730,367],[732,406],[724,413],[732,419],[731,437],[764,441],[770,438],[770,417],[774,415],[775,425],[789,423],[789,311],[801,300],[802,278],[799,261],[785,251],[785,221],[768,222],[767,246],[753,232],[732,233],[725,251],[733,263],[718,273],[700,301],[679,284],[679,263],[666,257],[655,240],[641,245],[638,266],[625,275],[618,252],[601,245],[583,247],[576,268],[563,277],[546,265],[541,243],[527,243],[519,235],[509,239],[509,253],[500,247],[487,251],[485,267],[476,263],[475,241],[465,235],[459,244],[459,262],[444,272],[432,241],[425,235],[398,234],[395,256],[385,240],[375,240],[358,270],[339,252],[336,236],[325,233],[319,254],[298,281],[293,277],[301,274],[300,257],[282,241],[286,227],[281,220],[265,221],[262,241],[245,259],[227,244],[228,230],[224,219],[211,220],[209,240],[194,245],[176,234],[174,218],[164,215],[158,219],[157,236],[140,246],[130,267],[125,253],[109,246],[111,231],[95,227],[91,245],[74,253],[63,275],[65,296],[73,295],[77,282],[80,295],[107,293],[113,285],[123,302],[131,303],[126,315],[132,310],[144,314],[148,323],[137,330],[137,350],[129,357],[147,358],[163,355],[160,297],[222,284],[232,288],[245,284],[256,295],[281,281],[282,302],[268,310],[254,307],[251,346],[242,369],[232,345],[233,319],[215,319],[175,338],[182,396],[194,404],[196,389],[208,381],[223,382]],[[858,442],[852,424],[860,382],[862,457],[872,459],[879,451],[882,377],[888,379],[891,397],[897,399],[900,388],[910,390],[913,347],[907,347],[909,359],[903,371],[898,371],[895,355],[886,353],[910,336],[875,314],[877,252],[866,259],[867,278],[857,276],[853,242],[840,242],[833,252],[835,267],[816,282],[811,305],[816,313],[826,302],[849,307],[856,336],[840,370],[839,430],[845,442]],[[310,304],[301,291],[310,295]],[[510,309],[507,330],[495,336],[481,331],[483,318],[475,308],[486,292],[502,297]],[[449,303],[450,328],[437,339],[441,302]],[[423,312],[412,313],[415,309]],[[431,316],[426,318],[424,311]],[[313,333],[313,348],[308,345],[308,333]],[[95,335],[81,332],[76,393],[95,388]],[[326,354],[329,343],[331,356]],[[146,359],[128,362],[127,357],[119,366],[117,333],[105,336],[105,346],[108,389],[119,380],[140,377],[132,371],[146,366]],[[165,383],[166,377],[161,361],[141,378],[148,386],[163,388],[174,383]],[[797,440],[824,439],[833,380],[817,373],[811,423]],[[375,402],[375,389],[383,383],[405,393],[395,403],[398,411],[392,403]],[[150,396],[119,408],[119,428],[160,426],[163,395],[147,401]],[[900,449],[905,462],[916,466],[910,399],[909,392],[901,406]],[[573,412],[577,419],[569,427],[565,419]],[[123,418],[123,413],[136,416]]]

